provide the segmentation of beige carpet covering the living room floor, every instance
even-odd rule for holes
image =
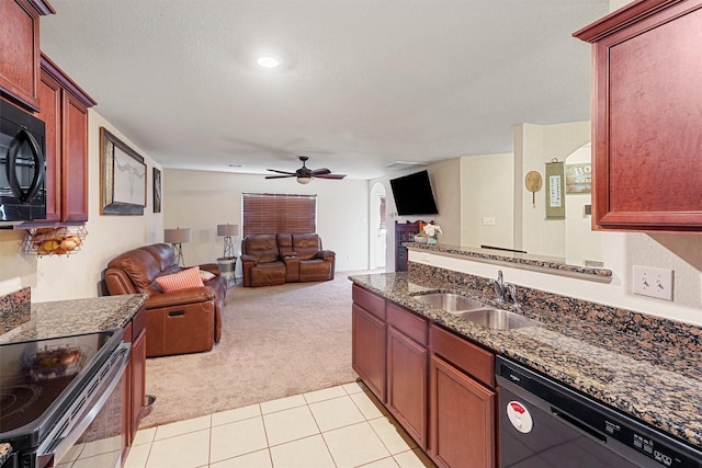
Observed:
[[[147,359],[146,392],[157,402],[140,427],[354,380],[349,274],[230,288],[222,341],[211,352]]]

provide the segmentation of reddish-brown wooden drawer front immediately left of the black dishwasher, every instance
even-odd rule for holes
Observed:
[[[484,385],[495,388],[495,355],[434,324],[429,328],[433,353],[442,356]]]

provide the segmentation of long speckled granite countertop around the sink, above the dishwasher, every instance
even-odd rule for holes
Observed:
[[[451,290],[485,300],[482,292],[451,289],[445,283],[431,279],[412,283],[406,273],[349,278],[498,354],[702,449],[702,355],[698,350],[686,347],[683,342],[676,345],[646,341],[612,326],[535,308],[522,308],[519,312],[539,320],[539,327],[490,330],[410,296]],[[489,300],[486,303],[490,304]],[[512,310],[517,309],[512,307]]]

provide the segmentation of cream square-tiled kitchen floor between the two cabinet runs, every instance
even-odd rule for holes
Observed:
[[[125,468],[432,466],[367,389],[351,383],[139,430]]]

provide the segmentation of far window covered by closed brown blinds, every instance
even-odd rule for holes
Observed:
[[[317,232],[317,195],[242,194],[244,236]]]

